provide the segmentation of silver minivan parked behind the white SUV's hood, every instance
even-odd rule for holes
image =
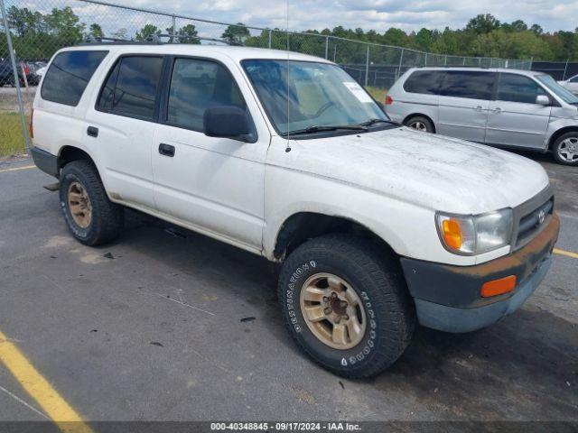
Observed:
[[[387,92],[386,112],[415,129],[492,146],[552,150],[578,165],[578,97],[541,72],[409,69]]]

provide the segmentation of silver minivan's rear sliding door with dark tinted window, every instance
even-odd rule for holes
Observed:
[[[438,99],[437,133],[484,142],[496,73],[448,70]]]

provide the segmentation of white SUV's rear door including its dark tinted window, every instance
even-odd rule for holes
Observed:
[[[154,208],[151,146],[163,56],[124,55],[110,69],[86,119],[86,143],[98,152],[112,198]]]

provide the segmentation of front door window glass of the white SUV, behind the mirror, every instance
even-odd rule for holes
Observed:
[[[167,123],[203,132],[203,116],[210,106],[245,106],[228,70],[210,60],[174,60]]]

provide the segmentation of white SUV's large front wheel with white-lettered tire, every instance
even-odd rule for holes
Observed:
[[[326,282],[316,282],[325,275],[333,279],[332,286],[329,278]],[[348,305],[343,306],[341,300],[336,306],[345,308],[351,315],[340,316],[347,321],[338,326],[345,324],[348,328],[346,336],[338,338],[344,342],[340,346],[334,345],[334,341],[331,346],[327,336],[325,340],[320,338],[324,332],[331,334],[331,339],[335,335],[336,325],[331,324],[339,313],[332,300],[335,277],[342,281],[337,291],[341,290],[343,299],[350,299],[355,294],[360,300],[357,307],[353,307],[355,302],[347,301]],[[323,298],[314,302],[307,300],[311,296],[308,287],[315,297],[321,296],[315,291],[321,287]],[[331,295],[326,296],[327,290]],[[353,235],[323,235],[299,246],[283,264],[278,297],[285,325],[297,345],[327,370],[351,379],[374,376],[394,364],[406,350],[415,328],[415,308],[399,263],[394,258],[387,259],[387,253],[375,245]],[[328,305],[331,307],[329,316],[326,314]],[[318,322],[307,320],[305,315],[310,313],[306,309],[321,314],[317,306],[325,306],[323,315],[326,318]],[[350,326],[353,327],[350,320],[359,316],[365,318],[365,329],[354,338],[356,334],[350,332]],[[353,345],[355,340],[359,343]]]

